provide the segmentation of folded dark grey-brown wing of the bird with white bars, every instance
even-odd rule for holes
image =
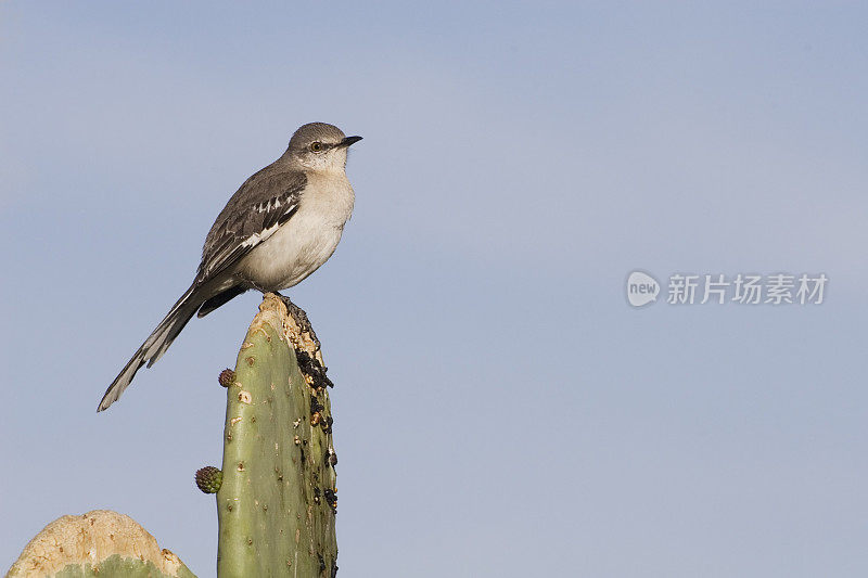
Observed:
[[[205,239],[196,279],[214,279],[275,234],[298,209],[307,177],[266,167],[232,195]]]

